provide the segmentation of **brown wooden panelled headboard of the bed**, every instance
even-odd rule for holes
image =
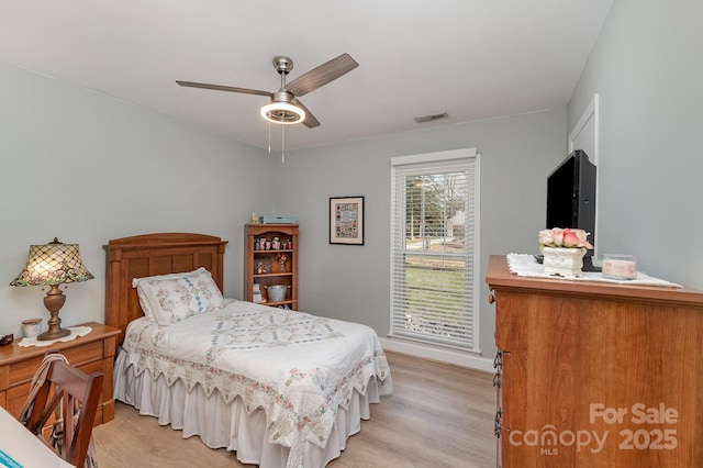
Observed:
[[[207,268],[223,290],[224,246],[220,237],[190,233],[143,234],[115,238],[104,246],[108,255],[105,324],[120,328],[144,315],[133,278]]]

